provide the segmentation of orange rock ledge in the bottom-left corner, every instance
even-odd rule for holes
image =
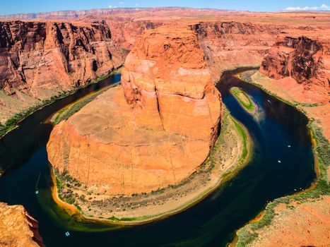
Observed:
[[[45,246],[38,232],[38,223],[21,205],[0,203],[0,246]]]

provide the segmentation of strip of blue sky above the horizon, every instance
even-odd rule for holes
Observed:
[[[279,11],[285,8],[289,10],[330,11],[330,0],[0,0],[0,14],[154,6],[186,6],[248,11]]]

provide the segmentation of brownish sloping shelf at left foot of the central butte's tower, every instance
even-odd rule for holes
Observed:
[[[139,109],[126,103],[122,87],[110,88],[87,104],[69,119],[69,124],[80,135],[100,143],[117,145],[149,145],[150,143],[182,142],[182,136],[167,133],[161,128],[148,128],[146,121],[160,121],[159,116],[148,115],[139,125]],[[161,123],[160,123],[161,125]]]

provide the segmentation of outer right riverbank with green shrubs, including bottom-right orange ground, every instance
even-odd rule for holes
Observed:
[[[244,72],[238,77],[247,83],[257,85],[261,90],[292,105],[307,116],[309,119],[308,128],[310,128],[312,135],[317,179],[305,191],[277,198],[269,203],[264,212],[261,212],[245,227],[237,231],[237,238],[232,245],[264,246],[269,240],[273,244],[276,243],[277,246],[285,246],[288,243],[306,246],[326,244],[326,241],[329,241],[329,231],[326,230],[326,224],[329,226],[330,219],[329,204],[326,203],[329,201],[330,193],[330,145],[329,139],[324,136],[322,130],[322,126],[326,125],[326,122],[322,119],[319,121],[314,119],[317,114],[313,109],[320,105],[306,104],[297,99],[293,100],[294,97],[285,97],[284,92],[279,93],[281,88],[276,88],[276,85],[271,84],[271,79],[264,78],[259,72]],[[329,104],[322,105],[322,107],[329,107]],[[328,210],[325,214],[322,211],[324,209]],[[311,215],[310,212],[313,214]],[[317,215],[322,217],[322,220],[319,220]],[[295,234],[292,229],[297,229],[299,234]]]

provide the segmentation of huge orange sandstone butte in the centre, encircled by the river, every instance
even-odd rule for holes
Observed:
[[[220,112],[196,33],[148,30],[126,58],[122,86],[54,128],[49,161],[94,192],[130,195],[164,188],[204,162]]]

